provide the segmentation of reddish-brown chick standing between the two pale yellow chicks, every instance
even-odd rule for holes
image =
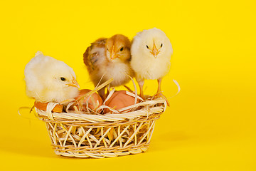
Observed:
[[[110,78],[114,79],[110,84],[113,87],[129,82],[128,76],[133,76],[130,67],[130,48],[131,42],[121,34],[116,34],[111,38],[99,38],[91,43],[83,54],[83,59],[95,86]],[[105,99],[105,88],[99,90],[98,93]]]

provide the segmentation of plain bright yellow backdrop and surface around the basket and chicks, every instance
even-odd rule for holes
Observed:
[[[6,1],[1,16],[1,170],[256,170],[255,1]],[[95,39],[161,28],[174,48],[163,80],[171,107],[149,150],[95,159],[59,157],[27,110],[23,70],[36,51],[74,68],[93,88],[82,53]],[[132,86],[129,83],[129,86]],[[156,81],[146,81],[146,93]]]

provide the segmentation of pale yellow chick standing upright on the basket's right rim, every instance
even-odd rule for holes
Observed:
[[[158,28],[144,30],[134,36],[131,47],[131,66],[139,83],[142,98],[144,98],[144,80],[157,79],[156,97],[166,99],[161,93],[161,80],[169,72],[172,53],[173,49],[169,38],[167,38],[164,31]]]

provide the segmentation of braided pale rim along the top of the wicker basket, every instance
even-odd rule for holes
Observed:
[[[75,121],[81,121],[85,123],[113,123],[119,121],[136,120],[137,118],[146,117],[149,118],[153,114],[161,114],[166,110],[166,100],[146,100],[142,103],[137,103],[137,106],[143,106],[143,108],[135,111],[128,111],[123,113],[106,113],[102,115],[96,115],[91,113],[75,113],[74,110],[68,111],[68,113],[54,113],[52,110],[55,105],[59,103],[48,103],[46,110],[40,110],[36,108],[38,118],[43,121],[58,121],[63,123],[74,123]],[[159,105],[160,104],[160,105]],[[156,106],[159,105],[159,106]],[[133,106],[133,105],[132,105]],[[132,108],[130,106],[130,108]]]

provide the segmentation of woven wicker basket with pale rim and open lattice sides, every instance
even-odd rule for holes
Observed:
[[[46,110],[36,108],[36,113],[46,122],[56,155],[117,157],[145,152],[156,120],[166,109],[163,99],[138,104],[139,110],[95,115],[75,111],[55,113],[52,110],[59,104],[48,103]]]

